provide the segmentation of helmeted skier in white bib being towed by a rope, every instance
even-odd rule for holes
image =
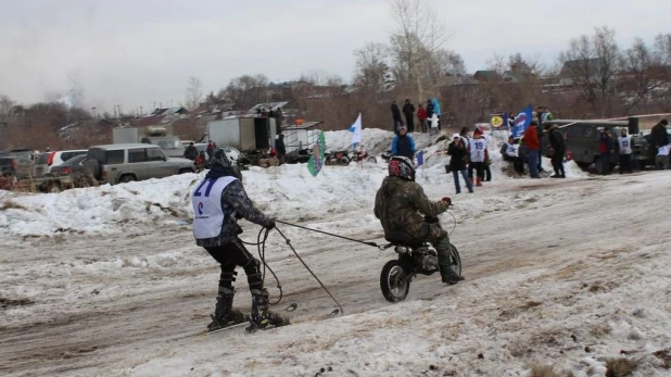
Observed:
[[[233,154],[228,148],[215,149],[210,172],[195,185],[191,196],[195,244],[207,250],[221,268],[217,304],[211,315],[212,323],[207,325],[210,331],[245,321],[251,322],[248,330],[288,324],[286,318],[268,311],[268,291],[263,286],[261,262],[238,238],[242,233],[238,218],[246,218],[267,229],[275,228],[275,222],[255,209],[246,196]],[[244,268],[246,274],[252,293],[251,318],[233,309],[236,266]]]

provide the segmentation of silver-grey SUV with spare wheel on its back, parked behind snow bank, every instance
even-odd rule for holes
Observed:
[[[193,161],[166,158],[159,146],[147,143],[91,147],[84,164],[99,183],[111,185],[195,172]]]

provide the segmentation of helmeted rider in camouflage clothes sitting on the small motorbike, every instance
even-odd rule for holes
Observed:
[[[389,176],[382,180],[375,199],[375,216],[380,219],[384,234],[405,233],[414,239],[427,240],[438,251],[438,263],[443,282],[453,285],[464,280],[450,266],[450,237],[440,224],[427,217],[438,216],[451,204],[450,198],[430,201],[415,181],[415,167],[408,158],[395,155],[389,161]]]

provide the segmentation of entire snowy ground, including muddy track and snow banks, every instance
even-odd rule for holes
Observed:
[[[567,179],[508,177],[494,135],[493,181],[454,194],[446,158],[418,181],[453,197],[452,242],[466,280],[413,280],[387,302],[376,248],[280,225],[342,304],[337,306],[277,233],[267,261],[293,325],[203,336],[218,266],[195,247],[189,192],[201,177],[49,194],[0,192],[0,375],[10,376],[669,376],[671,174]],[[364,130],[380,153],[391,133]],[[346,131],[327,146],[346,147]],[[429,153],[445,148],[418,135]],[[549,167],[549,161],[544,161]],[[383,242],[372,215],[385,165],[252,168],[248,193],[286,222]],[[452,229],[451,215],[442,216]],[[242,238],[259,227],[242,222]],[[252,250],[255,253],[255,250]],[[277,284],[266,277],[271,300]],[[251,298],[244,272],[236,306]],[[554,372],[554,374],[553,374]],[[613,373],[613,374],[610,374]]]

